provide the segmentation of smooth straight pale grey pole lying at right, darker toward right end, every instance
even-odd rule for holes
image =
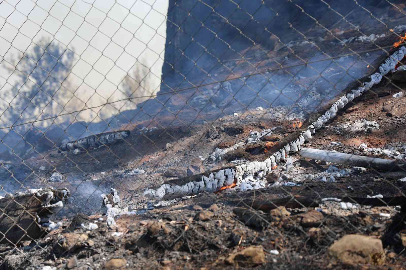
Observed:
[[[398,161],[389,159],[378,159],[369,156],[345,154],[340,152],[331,152],[313,148],[303,148],[300,151],[300,156],[307,159],[315,159],[343,165],[372,168],[382,171],[396,171],[406,169],[406,163],[401,163]]]

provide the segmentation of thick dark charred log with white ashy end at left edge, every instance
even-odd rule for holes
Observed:
[[[66,188],[45,188],[0,199],[0,243],[41,238],[47,230],[62,225],[53,223],[50,217],[63,208],[69,195]]]

